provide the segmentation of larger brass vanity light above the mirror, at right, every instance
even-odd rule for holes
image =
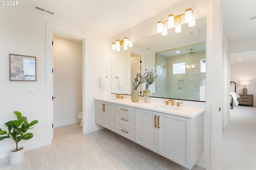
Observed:
[[[180,24],[181,22],[181,16],[185,16],[185,23],[188,23],[188,26],[193,27],[196,25],[196,20],[192,20],[192,9],[188,8],[185,10],[184,14],[180,14],[178,16],[174,16],[174,14],[170,14],[168,16],[168,20],[162,22],[162,21],[158,21],[157,22],[157,32],[160,33],[162,32],[163,36],[167,35],[167,30],[168,28],[172,28],[177,24]],[[168,27],[164,26],[164,23],[168,22]],[[181,25],[178,25],[175,27],[175,32],[181,32]]]

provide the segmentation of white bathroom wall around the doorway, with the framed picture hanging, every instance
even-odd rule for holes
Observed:
[[[19,6],[12,6],[12,8],[2,6],[0,16],[4,16],[0,24],[0,128],[6,129],[4,123],[15,119],[13,111],[20,111],[28,121],[38,120],[39,123],[30,130],[34,137],[21,141],[19,145],[25,146],[25,150],[30,150],[47,144],[46,22],[88,34],[88,50],[85,51],[87,56],[85,61],[88,64],[84,70],[86,96],[83,101],[88,121],[86,132],[100,128],[95,123],[94,94],[110,93],[110,89],[102,89],[99,84],[100,75],[111,75],[110,38],[99,35],[93,29],[84,30]],[[37,81],[9,81],[9,53],[36,57]],[[110,88],[110,80],[106,84]],[[36,94],[28,95],[28,88],[35,88]],[[0,141],[0,158],[8,156],[10,149],[14,146],[15,143],[11,139]]]

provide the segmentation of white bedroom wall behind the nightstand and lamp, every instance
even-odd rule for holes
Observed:
[[[236,93],[243,94],[243,87],[240,81],[249,81],[246,86],[247,94],[253,96],[253,106],[256,106],[256,61],[230,64],[230,81],[236,82]]]

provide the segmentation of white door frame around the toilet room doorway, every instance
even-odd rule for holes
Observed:
[[[84,104],[84,96],[86,85],[84,80],[86,78],[85,67],[88,65],[88,36],[78,32],[72,28],[59,26],[51,22],[46,22],[46,144],[51,144],[53,139],[53,34],[61,34],[67,37],[75,38],[82,41],[82,112],[83,112],[83,133],[88,129],[88,123],[84,119],[87,117]]]

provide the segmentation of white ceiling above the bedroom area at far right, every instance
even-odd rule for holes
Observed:
[[[256,44],[256,0],[230,0],[223,6],[223,32],[229,43],[252,39]],[[246,51],[240,47],[237,51]],[[242,59],[242,60],[238,60]],[[230,54],[230,63],[256,61],[256,45],[253,51]]]

